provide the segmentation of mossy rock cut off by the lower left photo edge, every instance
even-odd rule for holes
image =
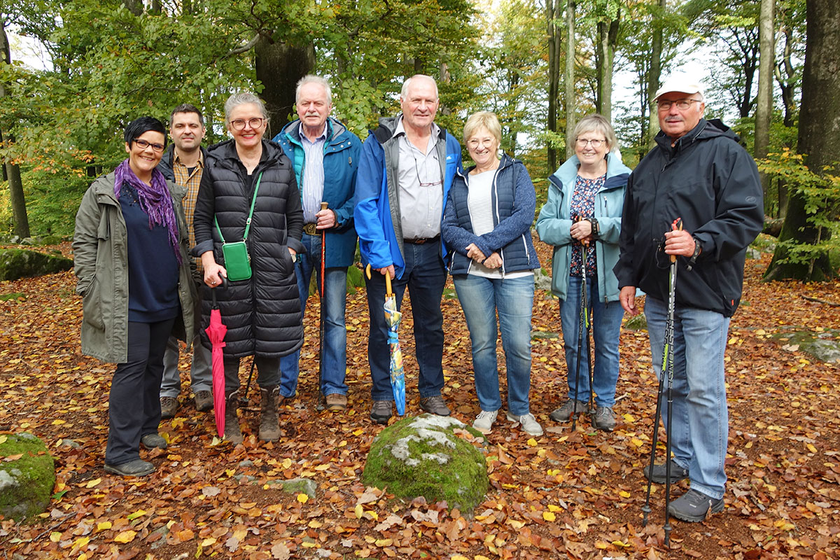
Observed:
[[[50,505],[55,464],[44,442],[31,433],[0,436],[0,515],[20,520]]]

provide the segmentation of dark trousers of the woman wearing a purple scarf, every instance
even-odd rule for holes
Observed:
[[[163,354],[175,319],[129,321],[128,361],[113,372],[108,397],[108,447],[105,463],[140,458],[140,437],[157,433],[160,424],[160,378]]]

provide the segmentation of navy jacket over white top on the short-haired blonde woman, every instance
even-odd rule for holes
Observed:
[[[466,173],[458,173],[449,191],[449,201],[444,211],[441,234],[449,246],[449,272],[465,275],[470,271],[472,259],[467,257],[467,246],[475,246],[487,256],[498,252],[501,257],[501,274],[539,268],[537,252],[531,240],[531,224],[537,205],[528,170],[521,161],[513,160],[507,154],[499,162],[493,177],[491,204],[493,207],[493,230],[484,235],[475,235],[467,203],[470,194],[470,167]]]

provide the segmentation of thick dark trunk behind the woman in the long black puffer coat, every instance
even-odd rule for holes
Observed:
[[[260,37],[254,52],[257,80],[265,86],[260,97],[270,118],[265,136],[271,139],[295,118],[295,88],[315,67],[315,44],[272,43]]]

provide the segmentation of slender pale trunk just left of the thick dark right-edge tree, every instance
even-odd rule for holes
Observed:
[[[762,160],[767,157],[770,145],[770,118],[773,113],[773,69],[775,62],[775,41],[773,8],[775,0],[761,0],[759,18],[759,95],[755,107],[755,145],[753,157]],[[761,190],[764,191],[764,213],[768,213],[770,177],[761,175]]]

